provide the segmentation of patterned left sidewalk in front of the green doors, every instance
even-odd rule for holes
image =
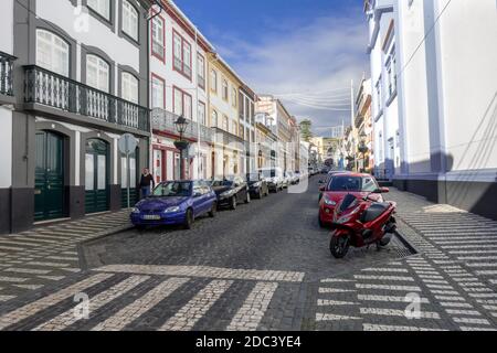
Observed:
[[[128,212],[0,235],[0,303],[81,271],[81,242],[130,227]]]

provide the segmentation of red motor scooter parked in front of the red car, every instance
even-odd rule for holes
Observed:
[[[371,194],[385,193],[387,188],[379,189],[363,199],[348,194],[335,208],[331,228],[331,254],[336,258],[347,255],[350,246],[364,247],[376,244],[378,247],[389,245],[396,229],[394,218],[395,202],[377,202]]]

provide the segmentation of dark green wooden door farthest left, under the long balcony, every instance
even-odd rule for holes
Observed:
[[[34,175],[34,221],[64,216],[64,140],[61,136],[36,132]]]

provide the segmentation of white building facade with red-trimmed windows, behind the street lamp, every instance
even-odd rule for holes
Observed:
[[[156,182],[181,178],[179,133],[175,121],[189,121],[184,138],[184,178],[211,175],[212,131],[208,128],[208,53],[211,44],[171,1],[150,22],[150,107],[152,108],[152,173]],[[200,142],[199,142],[200,141]]]

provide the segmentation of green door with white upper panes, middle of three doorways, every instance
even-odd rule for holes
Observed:
[[[88,140],[85,154],[87,214],[105,212],[109,208],[108,171],[108,145],[98,139]]]

